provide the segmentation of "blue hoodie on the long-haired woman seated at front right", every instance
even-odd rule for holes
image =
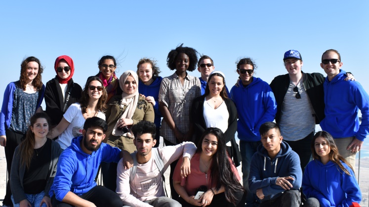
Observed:
[[[318,199],[321,207],[349,207],[352,202],[360,203],[362,195],[355,173],[345,163],[341,163],[351,175],[331,161],[326,165],[319,160],[311,161],[302,178],[306,198]]]

